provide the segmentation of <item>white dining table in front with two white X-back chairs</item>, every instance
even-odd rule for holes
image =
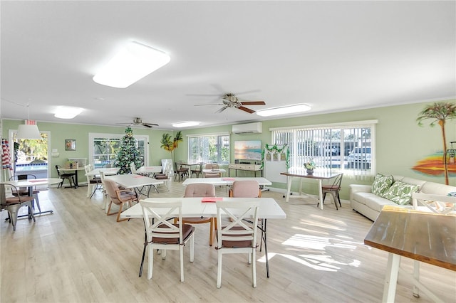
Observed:
[[[188,180],[188,179],[187,179]],[[252,198],[227,198],[220,197],[222,201],[252,201]],[[253,198],[259,201],[259,218],[261,224],[258,228],[261,230],[261,240],[264,241],[264,255],[266,257],[266,275],[269,277],[269,259],[268,259],[268,246],[267,246],[267,219],[285,219],[286,213],[274,200],[274,198]],[[175,202],[182,201],[182,217],[216,217],[217,207],[215,203],[203,203],[202,198],[145,198],[142,201],[155,201],[155,202]],[[164,213],[161,213],[164,214]],[[178,213],[176,213],[178,216]],[[228,216],[222,213],[222,217]],[[142,208],[140,203],[128,208],[126,211],[120,213],[120,218],[143,218]],[[140,274],[142,275],[142,265],[144,265],[145,251],[147,248],[147,235],[145,235],[144,248],[142,250],[142,259],[140,265]],[[261,250],[261,245],[260,245]]]

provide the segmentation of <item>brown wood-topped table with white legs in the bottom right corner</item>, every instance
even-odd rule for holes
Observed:
[[[383,206],[364,243],[388,252],[382,302],[394,302],[399,272],[412,280],[415,297],[420,289],[435,302],[443,302],[420,282],[419,262],[456,271],[456,214]],[[413,274],[400,268],[401,257],[417,261]],[[455,281],[446,283],[455,285]]]

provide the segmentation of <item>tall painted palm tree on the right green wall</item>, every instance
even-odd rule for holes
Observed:
[[[445,171],[445,184],[449,184],[448,181],[448,166],[447,166],[447,137],[445,134],[445,122],[447,119],[456,118],[456,104],[450,102],[437,102],[433,105],[427,105],[425,109],[420,112],[418,118],[416,118],[418,125],[423,126],[423,121],[432,119],[430,127],[434,127],[435,124],[440,125],[442,130],[443,140],[443,166]]]

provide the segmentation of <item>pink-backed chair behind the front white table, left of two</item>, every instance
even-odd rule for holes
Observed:
[[[185,188],[184,197],[214,197],[215,187],[212,184],[189,184]],[[182,223],[189,224],[203,224],[210,223],[209,225],[209,246],[212,246],[212,240],[214,239],[214,230],[217,229],[217,219],[209,217],[194,217],[194,218],[182,218]],[[174,223],[177,223],[175,218]]]

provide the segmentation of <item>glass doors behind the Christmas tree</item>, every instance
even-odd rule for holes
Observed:
[[[123,136],[124,134],[89,133],[89,163],[93,163],[95,168],[113,165]],[[133,135],[133,137],[136,139],[142,164],[148,165],[149,149],[146,147],[149,136]]]

